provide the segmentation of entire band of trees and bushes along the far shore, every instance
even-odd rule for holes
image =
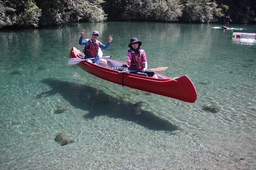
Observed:
[[[256,2],[229,0],[2,0],[0,29],[104,21],[256,24]]]

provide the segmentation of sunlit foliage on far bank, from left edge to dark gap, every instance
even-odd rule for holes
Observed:
[[[60,26],[107,19],[103,0],[1,0],[0,27]]]

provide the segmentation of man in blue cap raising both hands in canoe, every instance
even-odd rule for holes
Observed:
[[[100,37],[100,33],[98,31],[93,31],[91,38],[83,40],[83,37],[85,35],[85,29],[81,32],[81,37],[78,41],[79,45],[85,45],[84,54],[85,59],[87,58],[95,58],[93,63],[96,63],[98,65],[105,65],[107,64],[107,60],[99,58],[98,51],[99,48],[101,49],[107,49],[112,42],[112,35],[109,35],[109,40],[107,45],[103,45],[100,41],[98,41],[98,38]],[[89,62],[92,62],[91,60],[88,60]]]

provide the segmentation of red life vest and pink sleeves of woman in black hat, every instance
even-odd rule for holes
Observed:
[[[129,50],[132,53],[133,60],[131,61],[131,69],[132,70],[142,70],[145,68],[145,60],[146,60],[146,54],[145,51],[140,49],[139,55],[133,51]]]

